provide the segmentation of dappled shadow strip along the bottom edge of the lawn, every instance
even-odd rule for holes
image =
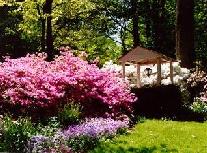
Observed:
[[[166,144],[160,144],[159,147],[122,147],[122,146],[98,146],[90,153],[178,153],[176,149],[169,149]]]

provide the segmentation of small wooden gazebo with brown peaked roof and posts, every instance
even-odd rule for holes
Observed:
[[[173,65],[172,63],[175,59],[167,57],[161,53],[158,53],[153,50],[149,50],[143,47],[136,47],[130,50],[126,55],[123,55],[119,58],[119,62],[122,64],[123,68],[123,78],[125,78],[125,64],[133,63],[137,67],[137,87],[141,87],[140,80],[140,66],[148,64],[157,64],[157,84],[161,84],[161,64],[170,63],[170,80],[173,83]]]

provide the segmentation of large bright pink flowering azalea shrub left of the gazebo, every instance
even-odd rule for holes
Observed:
[[[95,99],[113,107],[135,100],[123,79],[88,64],[67,48],[62,48],[54,61],[45,58],[45,54],[27,55],[0,63],[2,101],[46,107],[66,100],[84,103]]]

